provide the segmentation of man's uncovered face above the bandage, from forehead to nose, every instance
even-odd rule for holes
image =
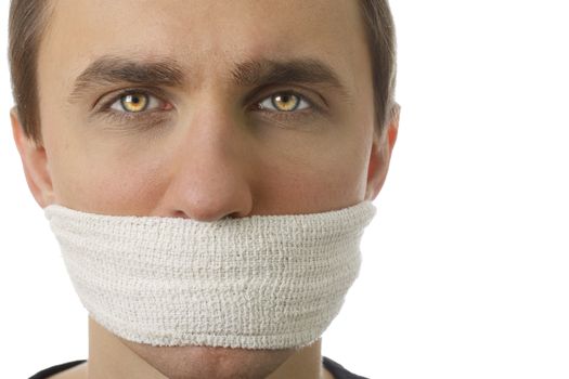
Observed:
[[[389,146],[357,1],[52,5],[40,205],[212,221],[377,194]]]

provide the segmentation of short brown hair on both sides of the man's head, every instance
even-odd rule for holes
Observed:
[[[360,0],[372,56],[374,110],[379,131],[399,110],[395,101],[397,77],[396,30],[388,0]],[[47,23],[48,0],[12,0],[9,57],[12,92],[25,134],[41,144],[37,83],[38,52]]]

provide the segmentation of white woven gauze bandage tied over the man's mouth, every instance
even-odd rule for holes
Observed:
[[[46,208],[90,316],[152,345],[305,347],[358,276],[371,201],[201,222]]]

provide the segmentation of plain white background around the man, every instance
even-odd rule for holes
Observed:
[[[371,378],[569,377],[565,1],[391,1],[401,127],[324,354]],[[0,5],[5,52],[8,1]],[[0,58],[0,377],[87,357]]]

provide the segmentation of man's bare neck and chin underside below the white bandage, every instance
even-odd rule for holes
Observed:
[[[332,378],[321,341],[300,350],[157,348],[126,341],[89,318],[89,379]]]

